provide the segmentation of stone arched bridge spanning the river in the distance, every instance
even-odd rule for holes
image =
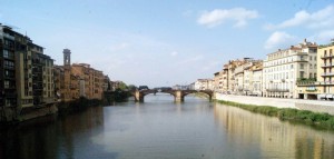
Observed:
[[[157,92],[164,92],[169,93],[174,96],[175,101],[185,101],[185,96],[190,93],[206,93],[209,98],[209,101],[214,98],[214,91],[212,90],[155,90],[155,89],[148,89],[148,90],[135,90],[131,92],[131,95],[135,97],[136,101],[144,102],[144,97],[149,93],[157,93]]]

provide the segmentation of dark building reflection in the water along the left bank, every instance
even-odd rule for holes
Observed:
[[[76,147],[86,147],[88,143],[75,147],[73,139],[78,139],[80,135],[82,138],[88,137],[92,131],[102,129],[102,107],[89,108],[87,111],[62,118],[49,116],[20,123],[7,131],[0,131],[0,158],[78,157],[80,152],[76,151]]]

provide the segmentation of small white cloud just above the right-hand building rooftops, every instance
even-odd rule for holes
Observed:
[[[287,48],[287,46],[291,46],[291,43],[296,43],[297,38],[294,36],[291,36],[283,31],[275,31],[265,42],[265,49],[267,50],[274,50],[274,49],[284,49]]]

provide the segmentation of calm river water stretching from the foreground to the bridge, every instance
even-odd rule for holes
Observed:
[[[334,132],[235,107],[146,96],[0,132],[0,159],[334,158]]]

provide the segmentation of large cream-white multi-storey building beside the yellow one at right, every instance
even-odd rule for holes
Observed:
[[[263,69],[263,95],[276,98],[302,98],[297,81],[314,80],[317,44],[306,39],[291,48],[267,54]]]

